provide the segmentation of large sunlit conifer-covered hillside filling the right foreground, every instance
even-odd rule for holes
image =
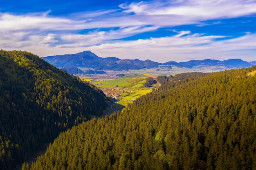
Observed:
[[[256,67],[175,75],[114,113],[62,132],[23,170],[255,170]]]

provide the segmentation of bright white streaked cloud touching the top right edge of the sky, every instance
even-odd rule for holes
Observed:
[[[161,3],[162,2],[162,3]],[[255,0],[150,1],[120,5],[126,12],[145,15],[182,15],[194,20],[233,18],[256,13]]]

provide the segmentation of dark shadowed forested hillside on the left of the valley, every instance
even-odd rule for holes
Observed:
[[[106,108],[98,88],[25,51],[0,50],[0,77],[1,170]]]

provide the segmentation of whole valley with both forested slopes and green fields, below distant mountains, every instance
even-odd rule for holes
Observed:
[[[1,50],[0,70],[1,170],[256,165],[256,66],[76,76]]]

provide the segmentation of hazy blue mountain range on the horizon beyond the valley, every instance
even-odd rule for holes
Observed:
[[[43,57],[43,59],[58,68],[66,70],[68,73],[73,74],[101,74],[104,71],[121,71],[121,70],[139,70],[149,68],[169,68],[172,66],[191,68],[194,67],[209,67],[209,66],[223,66],[223,69],[230,68],[246,68],[256,64],[256,61],[246,62],[241,59],[229,59],[224,61],[219,60],[190,60],[188,62],[153,62],[151,60],[141,61],[139,59],[119,59],[117,57],[99,57],[91,51],[83,51],[76,54],[54,55]],[[79,70],[77,69],[79,68]],[[83,68],[83,69],[81,69]]]

